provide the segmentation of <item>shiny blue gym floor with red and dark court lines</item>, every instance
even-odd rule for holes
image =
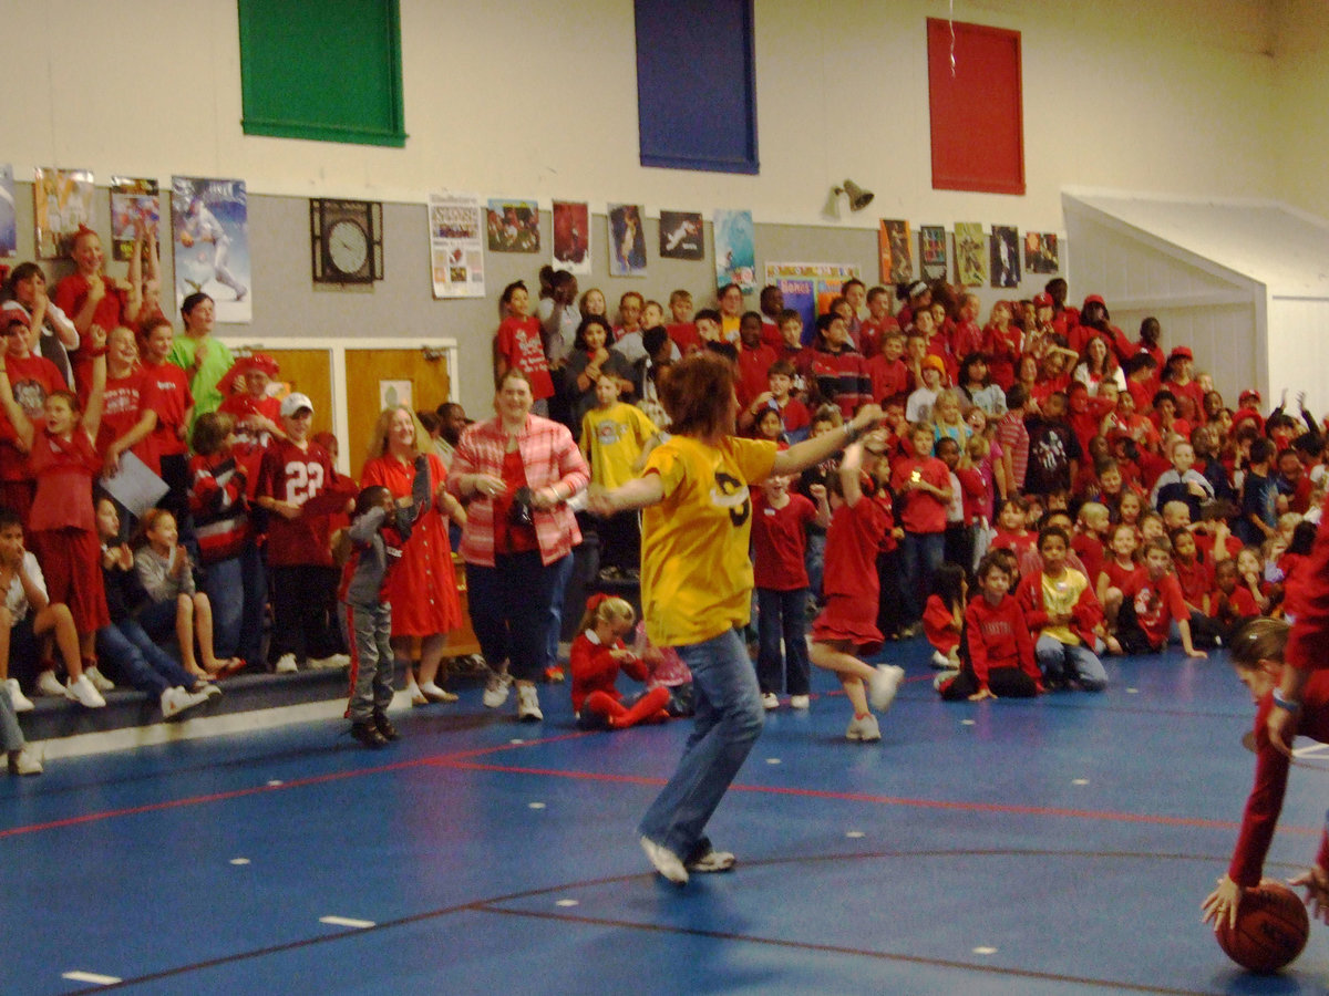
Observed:
[[[678,888],[634,827],[688,721],[581,733],[461,701],[54,760],[0,781],[0,993],[1301,993],[1231,964],[1199,904],[1236,838],[1252,706],[1224,657],[1110,660],[1110,691],[944,704],[921,641],[880,744],[815,675]],[[1314,853],[1329,756],[1293,770],[1267,874]],[[336,918],[326,920],[324,918]]]

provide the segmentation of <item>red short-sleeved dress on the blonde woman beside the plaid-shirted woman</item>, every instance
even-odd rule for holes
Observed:
[[[447,479],[443,461],[429,454],[429,494]],[[415,466],[391,456],[375,457],[360,473],[360,486],[383,485],[393,498],[411,495]],[[416,519],[401,562],[388,575],[387,600],[392,606],[393,636],[436,636],[461,627],[457,578],[448,546],[448,521],[431,498],[429,511]]]

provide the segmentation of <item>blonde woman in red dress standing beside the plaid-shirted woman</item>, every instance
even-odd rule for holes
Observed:
[[[369,457],[360,471],[360,486],[383,485],[393,498],[409,498],[415,479],[415,459],[429,459],[429,507],[416,519],[411,539],[401,550],[401,562],[388,575],[385,600],[392,606],[392,648],[399,659],[409,660],[411,645],[420,641],[419,683],[407,668],[411,701],[455,703],[457,696],[435,680],[443,660],[448,633],[461,625],[457,579],[452,570],[448,521],[465,522],[457,499],[445,490],[448,470],[429,446],[429,434],[415,413],[403,405],[384,409],[373,426]]]

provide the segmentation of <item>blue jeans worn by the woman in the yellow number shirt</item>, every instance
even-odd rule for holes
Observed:
[[[638,829],[687,861],[706,847],[706,823],[762,734],[766,709],[738,631],[676,649],[692,672],[692,734]]]

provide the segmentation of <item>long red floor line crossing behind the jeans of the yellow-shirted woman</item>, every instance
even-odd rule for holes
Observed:
[[[663,785],[663,778],[633,774],[603,774],[599,772],[562,772],[553,768],[521,768],[517,765],[484,765],[439,758],[432,764],[461,768],[472,772],[502,772],[509,774],[538,774],[550,778],[575,778],[598,782],[626,782],[631,785]],[[1066,819],[1095,819],[1115,823],[1152,823],[1156,826],[1189,826],[1203,830],[1240,830],[1241,823],[1229,819],[1196,819],[1191,817],[1160,817],[1146,813],[1115,813],[1112,810],[1062,809],[1059,806],[1017,806],[1001,802],[953,802],[948,799],[916,799],[898,795],[873,795],[863,791],[825,791],[821,789],[792,789],[777,785],[742,785],[735,782],[731,791],[754,791],[769,795],[797,795],[840,802],[870,802],[878,806],[910,806],[914,809],[942,809],[965,813],[1003,813],[1009,815],[1061,817]],[[1280,826],[1278,830],[1302,837],[1318,837],[1320,827]]]

